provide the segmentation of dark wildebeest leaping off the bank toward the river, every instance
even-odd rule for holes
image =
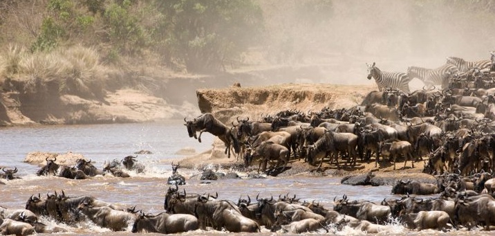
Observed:
[[[214,136],[220,138],[225,144],[225,154],[230,158],[230,146],[234,147],[234,151],[239,153],[239,142],[237,138],[232,134],[232,130],[223,124],[220,120],[216,119],[211,113],[205,113],[194,120],[186,120],[184,125],[187,127],[187,133],[189,137],[198,139],[201,143],[201,134],[203,132],[209,132]],[[199,136],[196,136],[196,131],[199,131]]]

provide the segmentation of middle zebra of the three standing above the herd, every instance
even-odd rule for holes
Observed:
[[[441,85],[442,89],[448,88],[450,75],[457,72],[457,67],[453,64],[445,64],[436,69],[427,69],[418,66],[409,66],[407,68],[409,78],[418,78],[424,83],[427,89],[431,89],[435,85]]]

